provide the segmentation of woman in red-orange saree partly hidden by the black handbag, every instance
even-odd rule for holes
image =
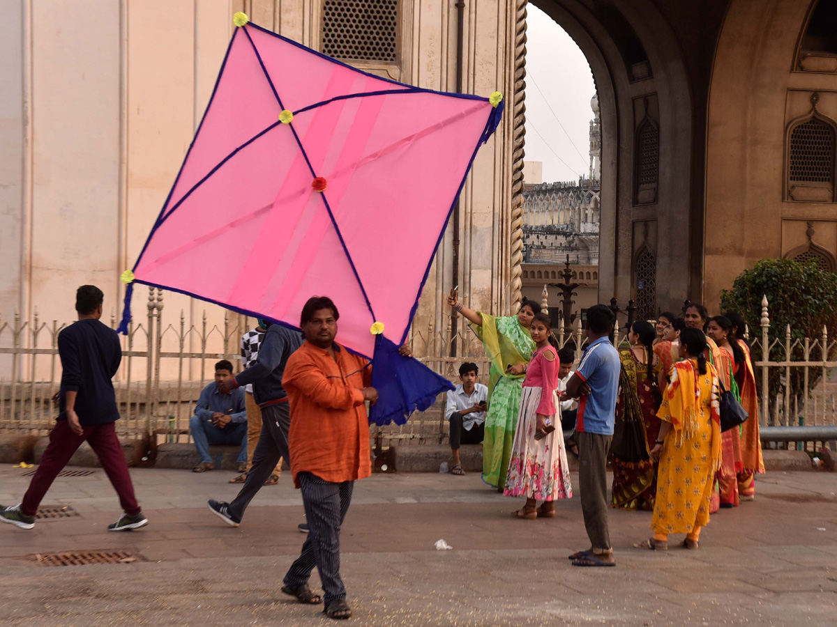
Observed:
[[[732,336],[732,323],[724,316],[715,316],[709,320],[706,331],[718,349],[715,356],[718,380],[723,390],[738,396],[735,374],[744,367],[744,352]],[[721,468],[717,475],[719,507],[738,507],[738,473],[743,469],[739,431],[724,431],[721,434]]]

